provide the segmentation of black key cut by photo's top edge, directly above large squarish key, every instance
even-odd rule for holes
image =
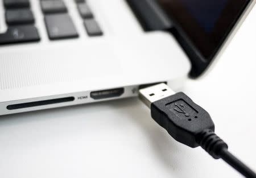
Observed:
[[[40,2],[44,14],[67,13],[68,11],[62,0],[43,0]]]

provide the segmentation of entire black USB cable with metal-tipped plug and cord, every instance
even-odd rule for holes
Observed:
[[[253,170],[228,151],[228,144],[214,134],[214,123],[202,107],[184,93],[175,93],[166,84],[139,90],[139,98],[151,109],[151,117],[175,139],[189,147],[201,146],[214,159],[223,159],[247,178]]]

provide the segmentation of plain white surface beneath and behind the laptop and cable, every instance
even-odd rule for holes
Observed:
[[[256,8],[219,63],[182,89],[256,170]],[[0,117],[0,176],[242,177],[156,125],[137,98]]]

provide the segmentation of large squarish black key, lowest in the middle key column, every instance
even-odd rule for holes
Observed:
[[[75,25],[68,14],[52,14],[44,17],[49,39],[77,38]]]

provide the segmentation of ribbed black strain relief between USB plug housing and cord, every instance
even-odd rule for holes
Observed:
[[[220,137],[218,137],[212,130],[204,130],[197,136],[197,143],[208,152],[214,159],[220,159],[221,150],[228,150],[226,144]]]

